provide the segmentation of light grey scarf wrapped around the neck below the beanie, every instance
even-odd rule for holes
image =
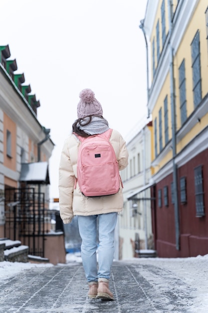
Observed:
[[[83,120],[87,121],[87,118],[89,119],[87,116],[84,117]],[[107,120],[100,116],[92,116],[91,122],[89,124],[81,126],[79,123],[77,123],[77,126],[89,135],[103,133],[109,129]]]

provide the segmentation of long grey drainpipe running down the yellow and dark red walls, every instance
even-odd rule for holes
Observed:
[[[171,35],[173,29],[172,22],[172,0],[168,0],[169,13],[169,47],[170,47],[170,80],[171,80],[171,121],[172,121],[172,148],[173,148],[173,187],[174,187],[174,211],[175,211],[175,231],[176,231],[176,249],[180,250],[180,223],[179,223],[179,205],[178,205],[178,180],[177,180],[177,164],[175,158],[176,151],[176,107],[175,107],[175,90],[174,90],[174,64],[173,64],[173,48],[171,45]]]

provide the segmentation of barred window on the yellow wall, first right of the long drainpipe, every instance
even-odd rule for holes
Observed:
[[[187,119],[185,59],[183,59],[179,67],[179,91],[180,91],[181,124],[183,125],[183,123]]]

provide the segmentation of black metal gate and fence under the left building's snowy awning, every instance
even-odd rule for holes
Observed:
[[[44,193],[35,188],[5,189],[4,236],[29,246],[29,254],[44,257],[44,234],[50,228]]]

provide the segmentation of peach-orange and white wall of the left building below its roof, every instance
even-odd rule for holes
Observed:
[[[1,47],[2,48],[2,47]],[[0,49],[2,53],[2,49]],[[7,151],[10,132],[10,150]],[[4,188],[20,186],[21,163],[37,161],[37,144],[45,137],[36,113],[31,109],[21,90],[0,63],[0,236],[4,227]],[[49,139],[41,145],[41,161],[48,161],[54,147]],[[9,155],[8,155],[9,154]],[[45,207],[49,206],[49,186],[45,192]]]

